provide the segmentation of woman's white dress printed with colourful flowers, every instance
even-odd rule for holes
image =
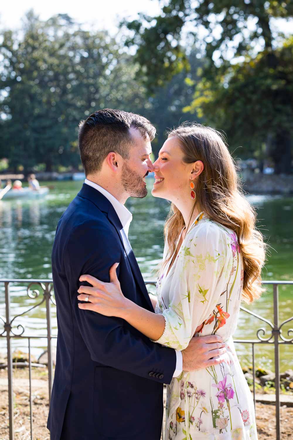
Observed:
[[[156,342],[183,350],[204,323],[199,336],[218,334],[227,347],[221,364],[183,371],[167,385],[166,440],[257,439],[253,399],[232,340],[243,285],[239,250],[233,231],[201,213],[170,271],[167,264],[159,274],[156,313],[166,325]]]

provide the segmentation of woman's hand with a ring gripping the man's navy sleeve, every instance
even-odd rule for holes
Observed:
[[[129,301],[124,297],[120,283],[117,278],[116,268],[119,263],[113,264],[110,268],[110,282],[102,282],[91,275],[81,275],[80,281],[87,281],[93,287],[80,286],[77,299],[87,301],[79,303],[79,308],[92,310],[105,316],[117,316],[123,318],[123,312],[126,311]]]

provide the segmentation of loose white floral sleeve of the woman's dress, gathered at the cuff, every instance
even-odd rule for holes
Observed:
[[[165,330],[155,342],[184,350],[196,327],[213,315],[221,295],[228,298],[233,266],[230,241],[228,231],[210,221],[187,234],[173,275],[170,304],[163,311]]]

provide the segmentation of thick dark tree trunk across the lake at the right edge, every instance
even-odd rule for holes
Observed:
[[[275,174],[291,173],[291,136],[286,130],[276,133],[272,143],[271,158],[275,162]]]

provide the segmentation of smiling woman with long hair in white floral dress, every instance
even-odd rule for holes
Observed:
[[[80,281],[95,288],[81,286],[79,293],[90,298],[78,299],[178,350],[196,332],[222,336],[227,353],[220,365],[183,371],[167,385],[166,439],[257,439],[252,396],[232,340],[241,299],[251,302],[261,293],[264,242],[255,213],[239,191],[228,148],[212,128],[183,125],[171,131],[154,168],[152,195],[172,202],[156,314],[123,296],[117,265],[111,283],[82,275]]]

